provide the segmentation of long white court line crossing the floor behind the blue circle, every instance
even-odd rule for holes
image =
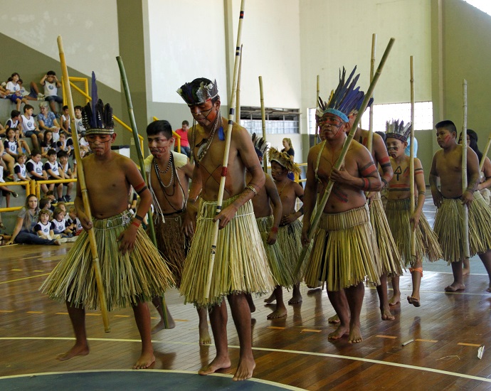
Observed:
[[[122,339],[122,338],[87,338],[88,341],[102,341],[102,342],[136,342],[142,343],[139,339]],[[0,341],[73,341],[72,337],[0,337]],[[152,340],[152,343],[166,343],[168,345],[194,345],[199,346],[197,342],[181,342],[181,341],[161,341]],[[229,348],[239,349],[239,346],[229,345]],[[425,372],[438,373],[440,375],[448,375],[455,377],[463,377],[470,380],[478,380],[480,382],[491,383],[491,379],[487,377],[480,377],[474,375],[466,375],[465,373],[450,372],[448,370],[440,370],[435,368],[418,367],[417,365],[401,364],[401,363],[391,363],[390,361],[373,360],[371,358],[353,357],[349,355],[337,355],[332,353],[317,353],[317,352],[305,352],[302,350],[289,350],[289,349],[275,349],[275,348],[257,348],[253,346],[253,350],[264,351],[264,352],[275,352],[275,353],[292,353],[297,355],[315,355],[317,357],[325,358],[338,358],[343,360],[353,360],[361,361],[362,363],[371,363],[379,365],[388,365],[390,367],[396,368],[406,368],[412,370],[423,370]],[[0,377],[1,378],[1,377]]]

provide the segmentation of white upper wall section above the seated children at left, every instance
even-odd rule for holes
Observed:
[[[68,66],[120,91],[116,0],[1,0],[0,32],[56,60],[61,35]]]

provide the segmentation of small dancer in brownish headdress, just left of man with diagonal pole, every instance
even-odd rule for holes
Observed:
[[[303,215],[303,205],[299,210],[295,210],[295,204],[297,203],[297,198],[300,201],[303,200],[303,188],[288,178],[288,173],[300,175],[301,171],[293,163],[291,156],[287,152],[280,152],[278,149],[270,148],[268,154],[271,162],[271,175],[275,180],[283,208],[283,217],[278,230],[278,243],[283,252],[283,263],[293,270],[302,252],[302,222],[299,219]],[[292,298],[288,301],[288,304],[302,302],[300,281],[302,281],[302,272],[293,286]],[[267,303],[275,300],[275,292],[268,299],[265,299]]]

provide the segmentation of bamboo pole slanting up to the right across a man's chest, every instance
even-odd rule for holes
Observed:
[[[371,98],[371,95],[374,93],[374,88],[376,86],[376,83],[379,81],[379,77],[382,73],[382,68],[384,68],[387,57],[389,56],[391,48],[394,45],[394,41],[396,41],[396,38],[391,38],[389,40],[389,43],[386,47],[384,55],[382,55],[382,58],[380,60],[379,68],[377,68],[376,73],[374,75],[374,78],[371,80],[369,89],[366,91],[363,103],[361,103],[361,107],[359,109],[357,118],[354,120],[352,129],[349,131],[347,139],[344,140],[344,145],[343,145],[343,149],[341,151],[341,154],[339,155],[339,158],[337,159],[336,164],[334,164],[334,168],[337,168],[338,170],[342,166],[343,161],[344,161],[344,156],[346,156],[347,151],[349,149],[349,145],[351,144],[351,142],[353,140],[354,134],[355,134],[355,132],[357,132],[357,127],[358,127],[358,124],[361,120],[361,115],[366,110],[366,107],[369,104],[369,100]],[[324,208],[326,207],[327,199],[329,198],[329,195],[331,195],[332,186],[334,186],[334,182],[329,180],[329,182],[327,182],[327,186],[324,190],[324,194],[322,195],[322,199],[321,199],[320,203],[318,203],[318,205],[317,205],[317,213],[315,214],[314,218],[312,219],[312,223],[310,225],[310,230],[309,230],[309,234],[308,234],[309,241],[312,240],[312,237],[315,234],[315,230],[317,230],[317,225],[319,224],[319,220],[320,220],[320,217],[322,216],[322,213],[324,213]],[[295,276],[298,274],[298,272],[300,272],[300,267],[302,267],[302,262],[305,259],[305,255],[307,255],[308,247],[309,246],[304,246],[302,248],[302,252],[300,253],[300,257],[298,258],[297,266],[295,267],[295,271],[293,272]]]

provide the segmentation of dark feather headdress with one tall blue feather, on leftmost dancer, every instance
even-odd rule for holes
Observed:
[[[85,134],[114,134],[115,123],[112,119],[112,107],[97,97],[95,73],[92,73],[92,102],[82,108],[82,123]]]

